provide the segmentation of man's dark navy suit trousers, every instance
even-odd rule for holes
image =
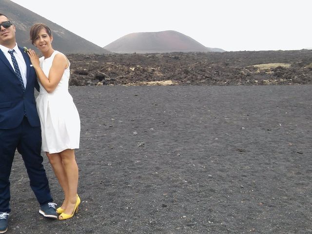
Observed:
[[[0,129],[0,213],[11,211],[9,177],[16,149],[22,156],[30,187],[39,204],[53,201],[42,164],[40,127],[32,127],[24,117],[16,128]]]

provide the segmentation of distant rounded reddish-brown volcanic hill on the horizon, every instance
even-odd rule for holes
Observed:
[[[168,30],[125,35],[103,47],[114,53],[224,52],[206,47],[182,33]]]

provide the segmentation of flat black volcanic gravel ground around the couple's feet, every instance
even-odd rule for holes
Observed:
[[[70,87],[81,118],[78,215],[42,217],[17,154],[7,233],[312,233],[311,90]]]

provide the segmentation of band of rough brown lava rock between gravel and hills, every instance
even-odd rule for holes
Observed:
[[[312,50],[70,54],[68,59],[72,73],[70,84],[75,86],[140,85],[155,81],[176,85],[312,83]]]

